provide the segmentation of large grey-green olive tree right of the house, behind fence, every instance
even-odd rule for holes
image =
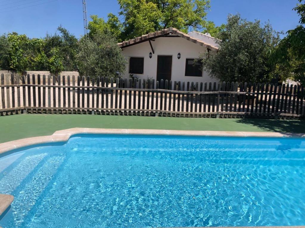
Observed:
[[[278,44],[279,33],[269,23],[261,26],[229,15],[224,31],[220,33],[217,53],[201,53],[203,68],[220,81],[264,82],[282,72],[269,64],[268,52]]]

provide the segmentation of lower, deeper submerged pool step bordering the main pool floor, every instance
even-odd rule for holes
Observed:
[[[64,156],[50,157],[35,172],[33,177],[24,185],[12,203],[12,211],[16,227],[20,227],[27,213],[35,205],[53,175],[56,173]]]

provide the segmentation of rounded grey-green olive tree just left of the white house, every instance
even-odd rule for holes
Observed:
[[[78,69],[81,75],[117,77],[125,70],[126,60],[117,41],[109,33],[96,33],[91,39],[83,37],[78,44]]]

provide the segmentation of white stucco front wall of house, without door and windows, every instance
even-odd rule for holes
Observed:
[[[144,73],[134,74],[135,77],[141,79],[154,78],[157,75],[157,57],[158,55],[171,55],[172,56],[172,81],[190,81],[190,82],[214,82],[210,76],[203,71],[202,77],[185,76],[185,61],[187,58],[198,58],[200,52],[205,52],[206,48],[196,43],[188,41],[181,37],[160,37],[155,41],[151,41],[155,54],[149,58],[149,53],[152,52],[149,42],[138,43],[130,47],[122,49],[122,54],[127,59],[126,71],[123,77],[129,77],[129,57],[144,57]],[[178,53],[181,58],[178,59]]]

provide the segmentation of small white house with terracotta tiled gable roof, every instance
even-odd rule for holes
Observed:
[[[168,28],[118,43],[128,62],[122,76],[133,74],[137,78],[157,81],[216,81],[202,71],[200,65],[193,64],[199,53],[217,52],[215,41],[210,34],[195,31],[185,34]]]

